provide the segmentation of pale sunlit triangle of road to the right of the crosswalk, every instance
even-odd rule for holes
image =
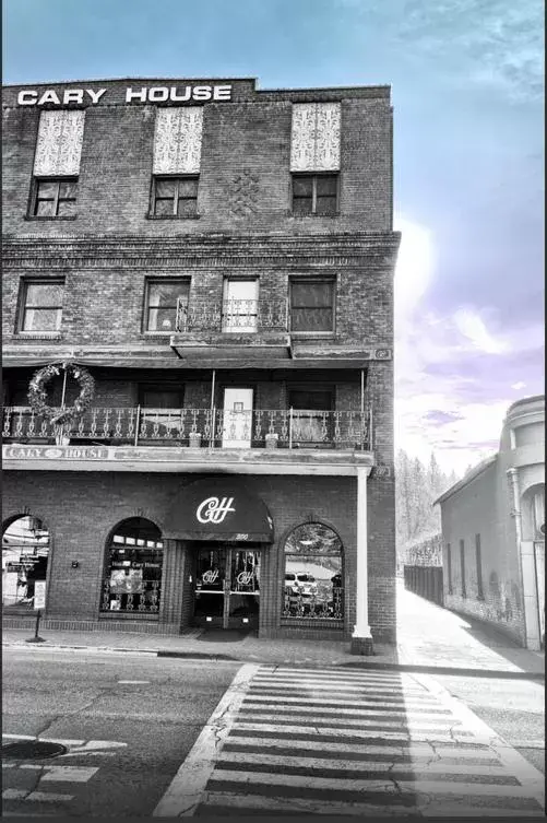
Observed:
[[[544,683],[443,674],[435,679],[545,774]]]

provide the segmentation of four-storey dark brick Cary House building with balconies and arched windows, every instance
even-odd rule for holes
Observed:
[[[8,86],[3,124],[7,624],[394,640],[389,86]]]

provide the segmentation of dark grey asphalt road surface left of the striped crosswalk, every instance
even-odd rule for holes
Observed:
[[[4,648],[3,736],[78,741],[55,766],[98,771],[45,781],[33,761],[4,761],[3,815],[152,815],[239,666]],[[29,788],[37,799],[24,799]]]

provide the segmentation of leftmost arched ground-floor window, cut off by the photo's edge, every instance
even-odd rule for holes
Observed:
[[[13,520],[2,534],[2,608],[7,613],[44,609],[49,531],[37,517]]]

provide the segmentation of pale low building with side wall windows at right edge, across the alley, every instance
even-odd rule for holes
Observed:
[[[444,604],[545,646],[545,398],[513,403],[497,455],[441,506]]]

